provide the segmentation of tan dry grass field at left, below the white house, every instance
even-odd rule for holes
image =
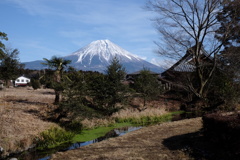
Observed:
[[[7,88],[0,91],[0,146],[4,155],[31,147],[36,135],[56,126],[39,117],[53,100],[53,91],[48,89]]]

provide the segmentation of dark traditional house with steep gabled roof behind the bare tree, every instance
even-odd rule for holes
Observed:
[[[193,52],[195,47],[191,47],[186,51],[186,54],[173,64],[170,68],[162,73],[151,72],[150,74],[157,76],[159,84],[165,91],[184,89],[184,81],[186,76],[191,75],[195,71],[195,57]],[[201,65],[205,67],[212,66],[213,58],[202,47],[200,51]],[[128,84],[134,83],[134,80],[140,75],[141,71],[130,73],[126,75],[126,82]]]

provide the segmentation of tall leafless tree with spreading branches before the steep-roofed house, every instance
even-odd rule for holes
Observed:
[[[155,42],[159,46],[158,53],[182,60],[191,55],[195,81],[186,76],[185,89],[204,98],[222,49],[222,42],[215,38],[221,0],[149,0],[147,8],[159,15],[154,19],[161,38],[160,42]],[[228,31],[223,38],[227,34]],[[203,54],[211,59],[211,65],[203,60]]]

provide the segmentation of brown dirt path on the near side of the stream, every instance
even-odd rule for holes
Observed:
[[[186,141],[202,128],[201,118],[145,127],[124,136],[76,150],[59,152],[54,160],[189,160]]]

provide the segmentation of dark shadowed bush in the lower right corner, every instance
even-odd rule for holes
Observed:
[[[203,131],[220,150],[229,155],[240,155],[240,114],[207,114],[203,116]]]

